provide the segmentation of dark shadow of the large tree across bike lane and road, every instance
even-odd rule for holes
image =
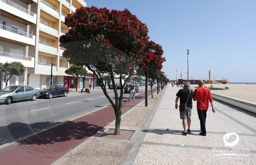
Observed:
[[[25,137],[29,134],[35,134],[37,131],[59,123],[60,122],[36,122],[26,124],[22,122],[12,122],[9,125],[0,127],[0,145]],[[102,127],[87,122],[69,121],[39,134],[35,134],[32,137],[20,140],[17,143],[20,145],[44,145],[64,142],[71,139],[84,139],[85,137],[92,136],[100,129],[102,129]]]

